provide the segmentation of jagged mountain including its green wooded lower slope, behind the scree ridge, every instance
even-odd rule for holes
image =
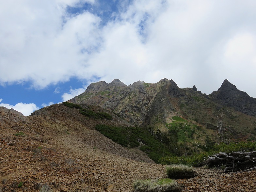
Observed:
[[[187,156],[209,151],[221,142],[255,141],[255,98],[228,80],[209,95],[195,85],[191,87],[179,88],[166,78],[158,83],[138,81],[129,86],[115,79],[111,83],[92,83],[68,102],[107,109],[131,126],[147,130],[163,144],[159,148],[162,156],[163,150]]]

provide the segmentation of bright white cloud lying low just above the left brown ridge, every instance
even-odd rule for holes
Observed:
[[[1,101],[2,99],[0,99],[0,102]],[[6,107],[8,109],[13,108],[14,110],[21,112],[25,116],[29,116],[35,110],[39,109],[39,107],[37,107],[36,104],[33,103],[17,103],[16,105],[1,103],[0,106]]]

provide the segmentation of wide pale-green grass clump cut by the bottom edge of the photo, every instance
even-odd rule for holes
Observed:
[[[147,179],[135,180],[134,191],[136,192],[180,192],[182,187],[172,179]]]

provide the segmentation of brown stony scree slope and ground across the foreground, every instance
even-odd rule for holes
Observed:
[[[0,121],[0,192],[34,192],[45,183],[53,191],[133,191],[135,179],[166,177],[165,165],[104,137],[91,128],[99,122],[76,109],[55,105],[27,118],[5,112]],[[195,170],[199,176],[177,180],[184,191],[256,191],[256,171]]]

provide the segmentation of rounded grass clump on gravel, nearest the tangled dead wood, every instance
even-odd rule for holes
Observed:
[[[193,170],[192,166],[184,164],[173,164],[166,166],[166,173],[171,179],[185,179],[195,177],[198,174]]]

